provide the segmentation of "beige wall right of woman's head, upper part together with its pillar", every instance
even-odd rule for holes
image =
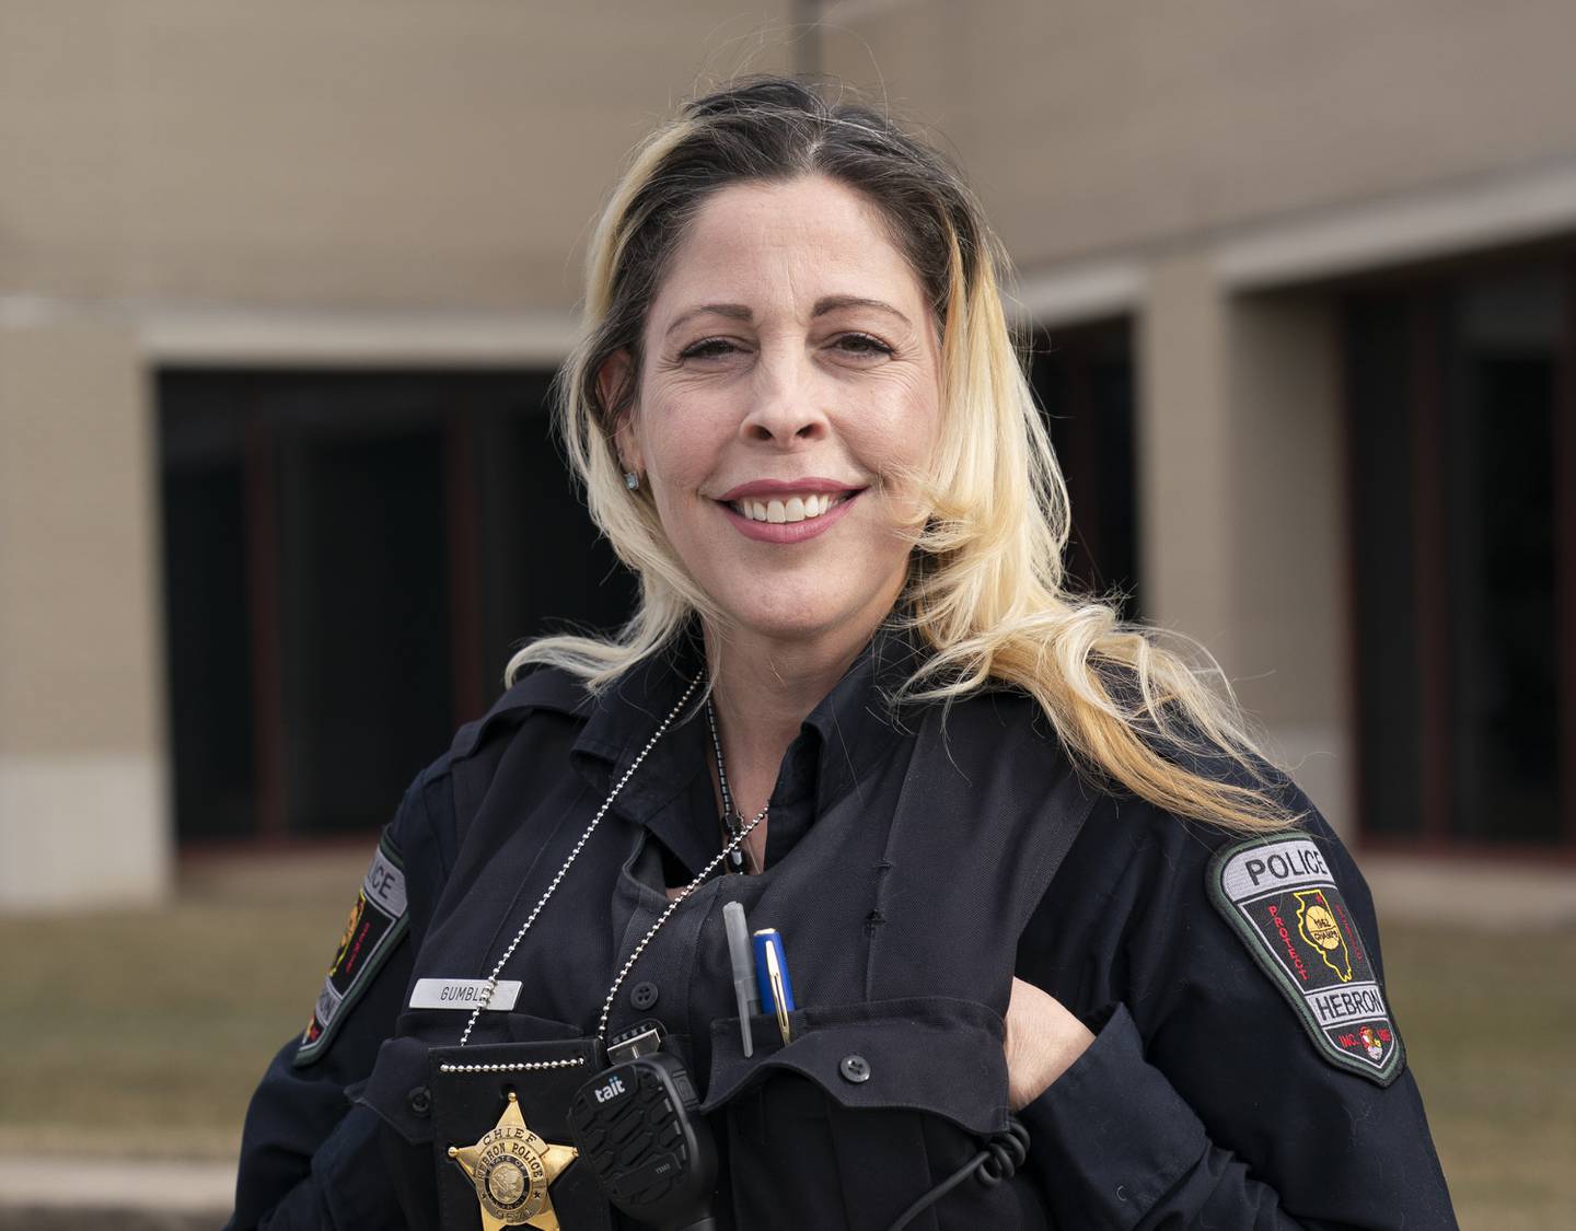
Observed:
[[[1146,615],[1209,648],[1349,831],[1325,287],[1576,233],[1576,8],[848,0],[831,14],[829,68],[883,82],[969,170],[1023,314],[1053,339],[1135,320]]]

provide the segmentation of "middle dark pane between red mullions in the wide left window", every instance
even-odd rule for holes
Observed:
[[[285,827],[361,829],[459,717],[443,427],[292,424],[277,444]]]

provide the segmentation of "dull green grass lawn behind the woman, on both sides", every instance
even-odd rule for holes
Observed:
[[[66,1151],[91,1125],[96,1149],[232,1158],[359,862],[199,876],[161,911],[0,920],[0,1149]],[[1384,947],[1463,1226],[1576,1226],[1576,935],[1390,927]]]

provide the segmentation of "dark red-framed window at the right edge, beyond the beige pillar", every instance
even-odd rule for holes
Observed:
[[[1559,687],[1573,624],[1576,281],[1440,274],[1344,309],[1363,832],[1571,835]],[[1568,694],[1568,689],[1563,690]]]

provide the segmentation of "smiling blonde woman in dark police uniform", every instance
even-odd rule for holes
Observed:
[[[1004,274],[797,82],[641,147],[561,383],[638,610],[411,787],[233,1226],[1453,1225],[1351,856],[1064,583]]]

